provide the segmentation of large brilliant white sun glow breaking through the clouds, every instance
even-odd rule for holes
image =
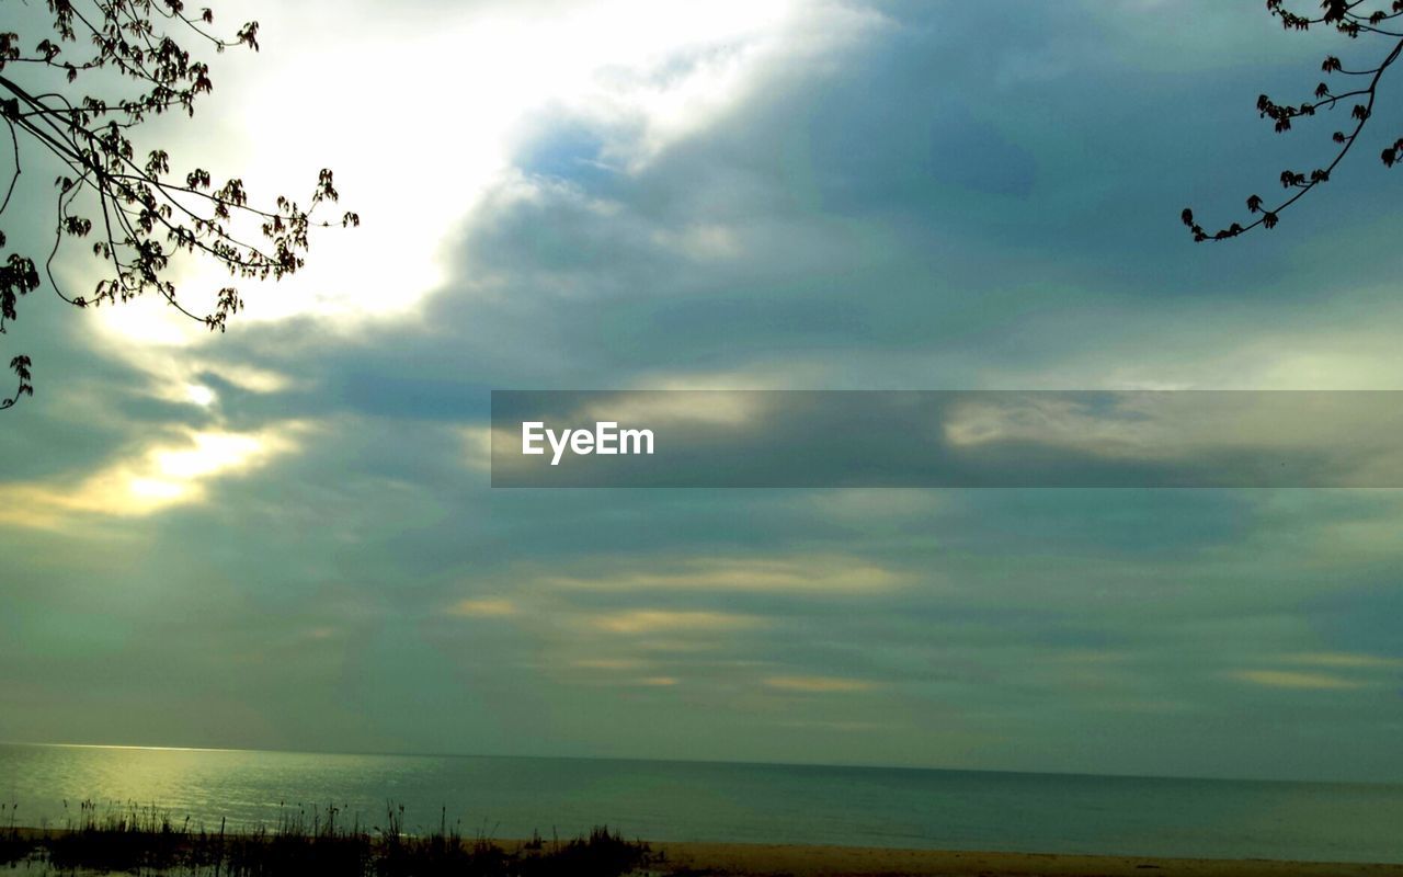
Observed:
[[[786,51],[794,13],[794,0],[631,0],[542,18],[528,4],[502,4],[383,39],[327,32],[328,11],[318,4],[251,10],[267,45],[257,65],[239,69],[243,79],[222,83],[210,98],[209,112],[231,115],[236,140],[213,145],[216,161],[243,174],[251,191],[292,196],[330,166],[345,203],[330,205],[324,219],[338,219],[345,206],[363,225],[317,233],[307,267],[276,290],[241,283],[240,319],[358,323],[412,312],[445,282],[445,243],[481,195],[513,173],[515,150],[542,114],[588,119],[609,132],[603,159],[619,173],[637,170],[746,94],[756,72]],[[417,86],[387,74],[400,70],[412,72]],[[335,87],[288,95],[289,83],[325,80]],[[196,140],[201,153],[210,149],[195,126],[175,136],[192,153]],[[180,281],[198,296],[229,278],[216,265],[192,264]],[[208,334],[168,309],[109,317],[105,330],[118,348],[189,345]]]

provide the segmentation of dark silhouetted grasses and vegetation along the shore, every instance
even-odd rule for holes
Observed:
[[[58,829],[0,828],[0,867],[28,862],[51,871],[126,871],[217,877],[619,877],[650,864],[652,852],[595,828],[572,841],[498,843],[463,838],[446,818],[427,835],[403,831],[404,808],[389,805],[384,825],[338,824],[337,807],[285,815],[278,826],[206,831],[173,821],[154,807],[129,804],[98,814],[83,803],[80,817]]]

